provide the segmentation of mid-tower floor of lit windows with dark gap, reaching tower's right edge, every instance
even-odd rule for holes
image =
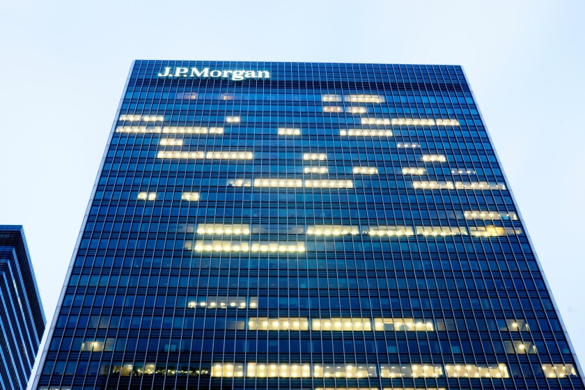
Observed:
[[[467,229],[464,226],[416,226],[416,235],[432,235],[432,236],[446,236],[446,235],[468,235]],[[359,228],[358,226],[345,225],[317,225],[317,226],[290,226],[286,234],[306,234],[306,235],[324,235],[324,236],[338,236],[338,235],[359,235],[363,233],[370,236],[411,236],[414,235],[411,226],[370,226],[368,228]],[[469,232],[475,236],[490,236],[497,237],[503,235],[520,235],[522,229],[501,227],[501,226],[469,226]],[[199,235],[249,235],[251,233],[250,226],[247,224],[199,224],[197,226],[197,234]],[[254,233],[260,233],[260,229],[255,228]]]

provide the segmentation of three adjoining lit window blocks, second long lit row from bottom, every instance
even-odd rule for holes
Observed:
[[[373,325],[372,325],[373,322]],[[249,318],[249,330],[434,331],[432,322],[412,318]]]

